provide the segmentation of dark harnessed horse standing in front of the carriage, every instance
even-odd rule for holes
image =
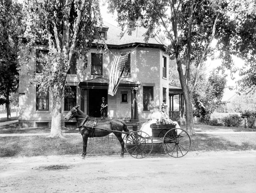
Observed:
[[[127,129],[127,126],[124,121],[120,121],[117,119],[96,119],[89,117],[79,109],[79,105],[70,109],[70,111],[65,116],[66,121],[70,120],[71,118],[76,118],[76,121],[79,124],[79,132],[83,137],[83,153],[81,155],[82,158],[86,156],[88,137],[104,137],[106,135],[109,135],[110,133],[116,135],[122,147],[121,157],[124,156],[125,142],[122,138],[122,131],[124,130],[127,133],[130,132]]]

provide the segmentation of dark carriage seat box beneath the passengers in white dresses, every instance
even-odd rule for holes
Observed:
[[[176,127],[175,123],[153,123],[150,125],[152,129],[152,137],[164,137],[167,131],[171,130],[172,128]]]

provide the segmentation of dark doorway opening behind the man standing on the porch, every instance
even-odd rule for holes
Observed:
[[[89,89],[89,116],[101,117],[100,101],[102,97],[105,97],[105,101],[108,104],[108,89]],[[108,115],[106,115],[106,117],[107,116]]]

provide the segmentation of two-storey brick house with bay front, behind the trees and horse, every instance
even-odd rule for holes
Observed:
[[[110,23],[104,24],[100,33],[105,37],[108,50],[97,53],[96,46],[93,46],[87,55],[87,66],[82,60],[76,60],[75,55],[72,59],[67,82],[74,94],[66,95],[62,101],[62,123],[65,127],[76,126],[75,120],[64,121],[64,116],[76,105],[87,115],[100,117],[102,97],[108,103],[108,118],[127,121],[146,119],[150,105],[161,105],[164,100],[172,104],[169,99],[174,95],[169,90],[169,56],[165,53],[163,42],[156,36],[145,43],[145,29],[141,28],[137,28],[131,36],[125,34],[120,39],[121,29]],[[35,78],[41,77],[40,63],[44,62],[47,52],[47,49],[38,47],[35,60],[20,69],[19,123],[23,127],[50,127],[51,95],[49,92],[38,93],[38,85],[30,84],[34,75]],[[129,65],[125,67],[116,95],[108,95],[108,76],[114,55],[128,53]],[[175,95],[179,93],[180,90]]]

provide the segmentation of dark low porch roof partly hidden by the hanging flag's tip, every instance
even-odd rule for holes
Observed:
[[[82,89],[106,89],[108,88],[108,83],[109,79],[102,76],[84,82],[79,82],[79,87]],[[121,89],[138,89],[138,86],[140,86],[140,84],[121,79],[118,87]]]

